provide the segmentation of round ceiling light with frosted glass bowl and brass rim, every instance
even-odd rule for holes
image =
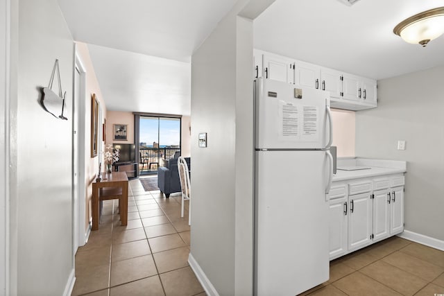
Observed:
[[[444,7],[434,8],[413,15],[395,26],[393,33],[405,42],[419,43],[425,47],[427,43],[444,33]]]

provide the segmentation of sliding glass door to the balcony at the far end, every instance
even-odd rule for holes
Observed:
[[[139,116],[139,172],[157,173],[163,159],[180,153],[180,118]]]

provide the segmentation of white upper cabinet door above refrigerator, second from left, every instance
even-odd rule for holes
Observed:
[[[263,55],[262,77],[287,83],[294,83],[294,61],[275,55]]]

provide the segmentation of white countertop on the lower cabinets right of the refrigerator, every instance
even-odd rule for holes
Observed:
[[[357,171],[336,171],[333,182],[359,179],[364,177],[377,177],[407,172],[407,162],[400,160],[364,159],[364,158],[338,158],[337,166],[367,166],[369,169]]]

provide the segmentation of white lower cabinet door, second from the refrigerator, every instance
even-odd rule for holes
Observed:
[[[371,243],[372,206],[370,192],[348,197],[348,250],[357,250]]]

